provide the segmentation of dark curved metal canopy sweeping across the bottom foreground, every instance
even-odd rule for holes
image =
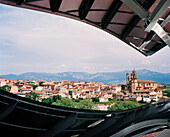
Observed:
[[[0,131],[5,137],[138,137],[169,125],[170,100],[126,111],[95,111],[48,105],[0,90]]]

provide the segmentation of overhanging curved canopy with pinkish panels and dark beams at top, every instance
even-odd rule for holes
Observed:
[[[144,55],[170,46],[170,0],[0,0],[100,28]]]

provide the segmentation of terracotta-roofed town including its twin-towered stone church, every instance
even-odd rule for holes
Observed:
[[[131,76],[130,76],[131,75]],[[166,99],[163,96],[163,85],[151,80],[137,80],[135,70],[126,75],[126,85],[109,85],[98,82],[86,81],[45,81],[45,80],[14,80],[0,78],[0,87],[6,88],[9,92],[18,96],[27,97],[32,93],[39,94],[43,98],[50,98],[60,95],[63,98],[72,99],[97,99],[98,102],[112,100],[133,100],[133,101],[159,101]]]

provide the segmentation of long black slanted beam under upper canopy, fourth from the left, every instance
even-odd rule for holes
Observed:
[[[108,12],[105,14],[105,16],[102,19],[102,29],[107,28],[113,17],[116,15],[117,11],[121,7],[123,3],[120,0],[116,0],[112,3],[112,5],[109,7]]]

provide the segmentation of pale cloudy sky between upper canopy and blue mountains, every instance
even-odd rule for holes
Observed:
[[[0,4],[0,75],[25,72],[170,73],[170,48],[145,57],[93,26]]]

